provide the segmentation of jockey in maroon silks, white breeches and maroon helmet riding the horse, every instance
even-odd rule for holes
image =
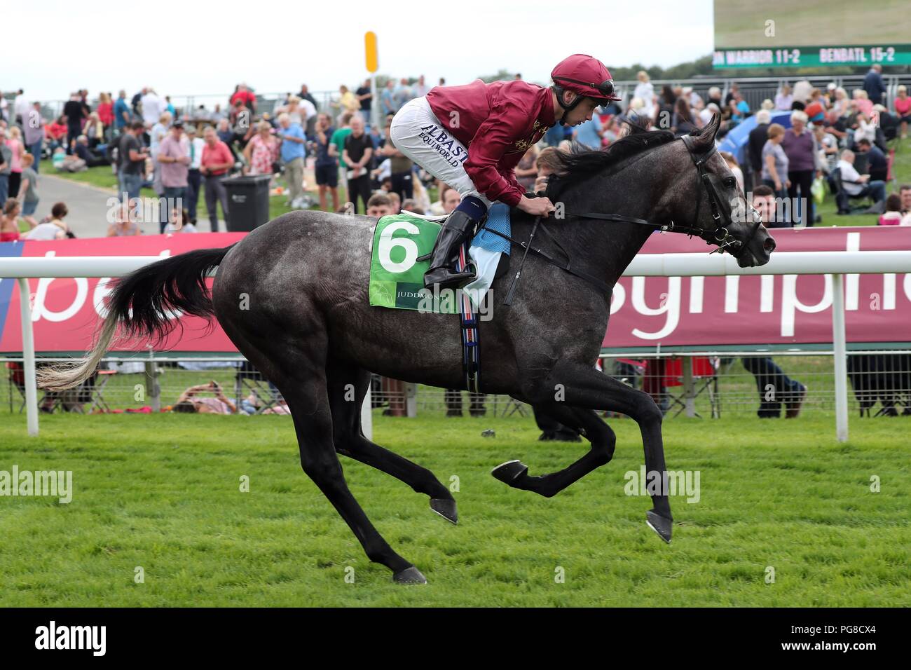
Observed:
[[[459,192],[461,202],[436,238],[427,288],[461,288],[475,279],[455,271],[459,248],[484,220],[487,207],[505,202],[534,216],[554,211],[548,198],[527,198],[514,169],[528,147],[558,121],[577,126],[599,105],[619,100],[607,67],[574,54],[550,73],[553,86],[523,80],[435,87],[406,103],[392,122],[396,149]],[[470,151],[469,151],[470,149]]]

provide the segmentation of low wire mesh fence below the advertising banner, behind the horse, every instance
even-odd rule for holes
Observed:
[[[39,359],[38,365],[48,359]],[[0,413],[23,410],[25,396],[17,377],[21,358],[0,358],[5,378],[0,384]],[[10,364],[12,364],[10,366]],[[215,381],[244,413],[260,413],[281,403],[281,395],[243,361],[164,360],[124,363],[106,360],[94,385],[65,394],[42,394],[42,411],[138,411],[157,404],[168,407],[189,387]],[[615,354],[602,359],[604,373],[647,391],[667,417],[731,417],[834,412],[834,365],[830,353],[763,355],[755,352],[691,354]],[[154,377],[150,371],[154,370]],[[848,355],[851,412],[858,416],[911,414],[911,349],[855,351]],[[157,388],[156,388],[157,387]],[[393,386],[393,388],[395,388]],[[805,396],[804,391],[805,389]],[[210,391],[202,396],[213,397]],[[464,416],[529,416],[530,407],[507,396],[473,397],[467,392],[401,385],[389,390],[379,377],[372,387],[374,407],[396,414]]]

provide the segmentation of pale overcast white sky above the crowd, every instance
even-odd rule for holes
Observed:
[[[247,13],[241,6],[250,7]],[[383,9],[377,9],[383,7]],[[531,81],[571,53],[608,66],[667,67],[709,54],[711,0],[633,3],[459,0],[382,3],[271,0],[12,2],[4,7],[0,89],[64,99],[76,88],[129,95],[225,94],[239,81],[258,92],[349,87],[368,76],[363,34],[379,43],[379,73],[465,83],[503,67]],[[35,26],[26,29],[22,26]],[[44,27],[38,27],[44,26]],[[51,31],[51,32],[48,32]],[[53,35],[36,41],[37,35]]]

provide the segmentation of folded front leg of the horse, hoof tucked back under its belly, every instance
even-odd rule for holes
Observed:
[[[577,430],[580,428],[585,430],[585,437],[591,442],[588,453],[568,467],[547,475],[529,476],[527,474],[528,466],[518,460],[509,460],[497,466],[491,474],[514,489],[530,490],[540,493],[545,498],[551,498],[578,479],[585,477],[593,469],[609,463],[614,455],[617,436],[590,409],[553,403],[548,405],[546,410],[548,414],[557,417],[560,423]]]

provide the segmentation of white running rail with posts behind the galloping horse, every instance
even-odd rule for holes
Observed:
[[[19,285],[22,310],[23,361],[26,375],[28,434],[38,433],[35,344],[27,278],[116,277],[132,272],[159,256],[72,256],[56,258],[0,258],[0,278],[14,278]],[[835,373],[835,435],[848,438],[847,355],[844,333],[845,273],[911,273],[911,251],[793,252],[773,253],[762,267],[740,268],[729,255],[663,253],[637,256],[627,276],[718,276],[729,274],[831,274],[833,282],[832,342]],[[368,394],[362,408],[364,435],[371,435]]]

